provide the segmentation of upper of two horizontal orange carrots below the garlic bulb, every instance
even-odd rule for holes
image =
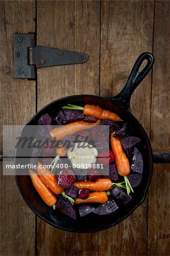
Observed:
[[[96,182],[93,181],[76,181],[74,184],[74,187],[81,189],[81,188],[86,188],[88,190],[93,190],[93,191],[106,191],[111,188],[112,182],[109,179],[99,179]]]

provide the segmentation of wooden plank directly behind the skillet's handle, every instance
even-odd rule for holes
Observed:
[[[152,52],[153,1],[102,1],[102,96],[111,97],[125,85],[140,53]],[[134,92],[131,109],[148,135],[150,131],[151,73]],[[99,232],[99,255],[146,255],[147,204],[121,224]],[[103,242],[105,241],[105,242]]]

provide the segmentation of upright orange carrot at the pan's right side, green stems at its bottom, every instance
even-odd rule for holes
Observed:
[[[127,176],[130,174],[130,164],[126,157],[125,151],[123,150],[121,140],[119,138],[114,138],[112,133],[110,142],[111,149],[114,153],[118,174],[121,176]]]

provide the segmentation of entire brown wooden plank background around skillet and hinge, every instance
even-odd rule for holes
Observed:
[[[60,97],[113,96],[136,57],[150,51],[154,69],[135,90],[131,109],[153,150],[169,151],[169,1],[0,1],[0,6],[1,125],[22,125]],[[14,32],[36,32],[38,44],[86,52],[89,61],[39,69],[37,81],[14,79]],[[169,170],[169,164],[155,164],[146,201],[121,224],[89,234],[45,224],[24,203],[14,177],[1,176],[0,255],[170,255]]]

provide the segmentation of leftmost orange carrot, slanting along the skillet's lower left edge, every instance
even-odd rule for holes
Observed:
[[[52,207],[57,201],[55,195],[53,192],[43,183],[43,181],[40,179],[40,177],[34,172],[29,172],[32,184],[34,185],[36,191],[39,193],[40,197],[42,197],[45,204],[47,204],[49,207]]]

